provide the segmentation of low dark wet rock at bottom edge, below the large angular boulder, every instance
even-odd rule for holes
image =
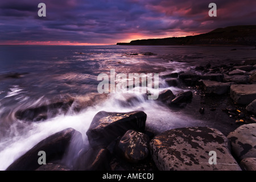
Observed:
[[[81,150],[77,162],[73,167],[74,171],[107,171],[112,155],[106,148],[90,148]]]

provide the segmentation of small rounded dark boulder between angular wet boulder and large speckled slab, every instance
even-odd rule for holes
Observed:
[[[150,139],[146,134],[128,130],[117,143],[117,153],[127,162],[138,163],[146,159],[149,153]]]

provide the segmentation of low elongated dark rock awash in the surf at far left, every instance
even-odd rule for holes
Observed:
[[[55,115],[60,113],[67,113],[74,100],[74,98],[69,97],[52,104],[18,110],[15,113],[15,117],[24,121],[42,121],[48,117],[55,117]]]

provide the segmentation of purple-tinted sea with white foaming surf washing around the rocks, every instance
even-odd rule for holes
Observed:
[[[237,48],[237,51],[230,51]],[[146,52],[154,54],[145,55]],[[101,73],[159,73],[158,92],[178,93],[189,88],[170,87],[161,77],[189,71],[195,65],[241,63],[255,59],[251,47],[234,46],[0,46],[0,170],[5,170],[40,140],[72,127],[86,131],[98,111],[143,110],[146,129],[160,133],[207,122],[173,112],[154,100],[147,100],[138,89],[132,93],[98,93]],[[74,98],[79,110],[48,112],[43,121],[26,121],[15,115],[19,110]]]

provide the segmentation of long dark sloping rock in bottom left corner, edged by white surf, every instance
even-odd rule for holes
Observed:
[[[82,145],[81,133],[72,128],[53,134],[36,144],[25,154],[20,156],[20,158],[16,159],[6,171],[32,171],[39,168],[41,166],[38,164],[39,151],[46,152],[47,162],[62,159],[73,138],[80,140]]]

